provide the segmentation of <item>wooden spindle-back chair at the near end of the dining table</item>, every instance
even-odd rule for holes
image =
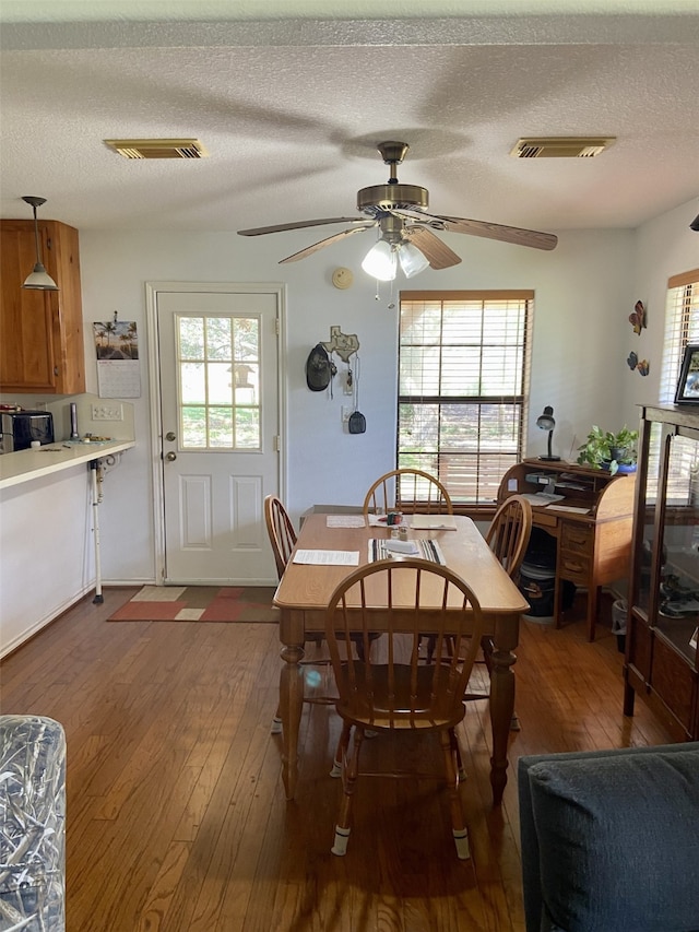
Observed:
[[[354,656],[343,658],[340,647],[350,632],[360,632],[368,648],[377,615],[388,629],[386,650],[377,657],[367,649],[366,661]],[[439,649],[447,636],[454,639],[458,649],[448,664],[425,664],[419,659],[420,632],[427,618]],[[367,731],[400,731],[416,739],[429,732],[438,735],[457,854],[461,859],[470,857],[459,795],[462,765],[454,729],[465,715],[463,694],[482,632],[483,616],[476,598],[466,582],[446,566],[423,559],[379,561],[359,567],[337,586],[325,615],[325,638],[340,696],[336,709],[343,720],[333,767],[333,775],[342,776],[343,783],[333,854],[346,852],[355,789],[360,776],[366,776],[359,774],[359,756]],[[383,776],[429,779],[436,775],[390,771]]]

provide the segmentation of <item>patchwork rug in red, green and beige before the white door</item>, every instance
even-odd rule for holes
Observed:
[[[110,622],[254,622],[277,624],[272,586],[144,586]]]

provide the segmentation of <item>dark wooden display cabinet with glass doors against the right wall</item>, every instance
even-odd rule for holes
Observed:
[[[638,694],[676,740],[696,741],[699,406],[643,408],[639,451],[624,712]]]

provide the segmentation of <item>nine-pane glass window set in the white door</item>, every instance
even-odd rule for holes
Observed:
[[[259,450],[260,321],[177,316],[182,449]]]

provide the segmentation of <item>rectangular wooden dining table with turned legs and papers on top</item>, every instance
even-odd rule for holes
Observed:
[[[304,521],[296,548],[358,551],[359,564],[368,563],[368,541],[388,536],[387,528],[328,528],[327,515],[310,515]],[[490,720],[493,757],[490,783],[493,799],[502,799],[507,783],[507,750],[510,720],[514,708],[512,652],[519,639],[520,615],[529,604],[497,562],[483,535],[470,518],[457,516],[455,531],[414,531],[408,538],[430,538],[439,542],[447,565],[462,576],[478,599],[486,621],[485,633],[493,636],[490,679]],[[325,605],[335,586],[354,567],[304,566],[289,563],[274,595],[281,611],[280,639],[282,666],[280,708],[283,723],[283,778],[286,798],[293,799],[297,780],[297,744],[304,698],[304,676],[299,661],[304,641],[310,632],[325,627]],[[377,630],[380,625],[377,624]]]

